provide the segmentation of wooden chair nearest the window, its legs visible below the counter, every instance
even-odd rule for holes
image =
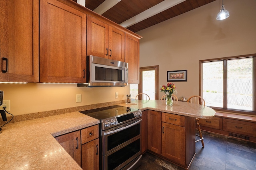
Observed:
[[[201,96],[191,96],[190,98],[188,98],[188,102],[194,103],[194,104],[201,104],[201,105],[205,106],[205,101]],[[198,133],[199,133],[199,135],[196,134],[196,136],[200,137],[200,139],[196,140],[196,142],[201,141],[202,146],[204,148],[204,137],[202,136],[202,133],[201,133],[199,120],[200,120],[200,118],[196,118],[196,126],[198,128]]]

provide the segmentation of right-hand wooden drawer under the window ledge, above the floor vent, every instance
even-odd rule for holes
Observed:
[[[230,132],[239,133],[242,135],[249,135],[249,136],[256,137],[256,132],[254,132],[253,129],[256,129],[256,123],[233,120],[233,119],[223,119],[224,131],[230,131]]]

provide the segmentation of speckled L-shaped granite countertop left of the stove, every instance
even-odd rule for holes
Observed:
[[[54,137],[98,123],[73,112],[6,124],[0,133],[0,169],[81,170]]]

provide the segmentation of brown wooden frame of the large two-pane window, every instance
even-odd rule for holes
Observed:
[[[246,111],[246,110],[239,110],[239,109],[228,109],[227,108],[227,61],[231,59],[244,59],[244,58],[252,58],[252,66],[253,66],[253,111]],[[256,115],[256,54],[249,54],[249,55],[240,55],[234,57],[223,57],[223,58],[216,58],[216,59],[206,59],[199,61],[199,95],[202,96],[203,94],[203,63],[209,61],[223,61],[223,107],[212,107],[215,111],[224,111],[228,113],[239,113],[239,114],[246,114],[246,115]]]

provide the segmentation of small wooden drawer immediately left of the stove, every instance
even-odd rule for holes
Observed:
[[[81,143],[87,143],[99,137],[99,125],[81,129]]]

